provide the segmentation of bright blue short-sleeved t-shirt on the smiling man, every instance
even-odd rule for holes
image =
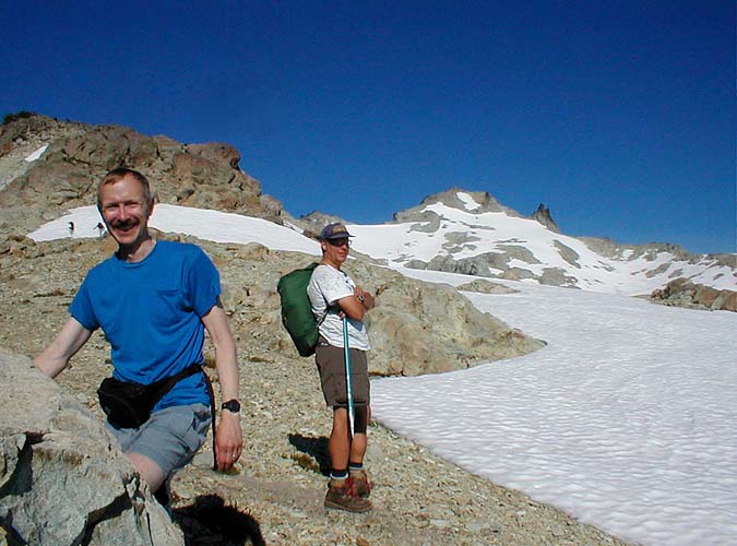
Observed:
[[[110,343],[114,376],[148,384],[202,364],[204,324],[221,294],[217,269],[190,244],[157,241],[129,263],[112,256],[88,273],[69,306],[84,328],[102,328]],[[202,373],[179,381],[154,410],[210,403]]]

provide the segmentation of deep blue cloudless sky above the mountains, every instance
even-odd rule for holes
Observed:
[[[732,0],[11,2],[0,115],[236,146],[299,216],[451,187],[735,252]]]

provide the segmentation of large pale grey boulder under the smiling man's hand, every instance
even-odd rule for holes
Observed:
[[[0,385],[8,544],[185,544],[102,422],[56,381],[0,351]]]

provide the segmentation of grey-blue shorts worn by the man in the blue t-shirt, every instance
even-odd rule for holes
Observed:
[[[169,476],[202,447],[211,422],[210,406],[191,404],[154,412],[140,428],[116,428],[109,422],[105,426],[118,439],[123,453],[145,455]]]

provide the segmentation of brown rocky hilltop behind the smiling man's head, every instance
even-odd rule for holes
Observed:
[[[121,165],[141,170],[159,202],[280,222],[282,204],[263,195],[239,163],[238,151],[223,143],[182,144],[119,126],[13,118],[0,127],[0,223],[27,233],[41,218],[93,204],[100,177]]]

